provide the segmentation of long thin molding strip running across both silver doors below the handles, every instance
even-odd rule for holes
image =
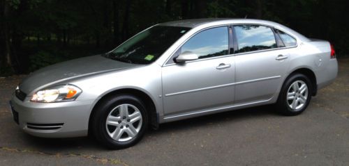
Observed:
[[[211,86],[211,87],[207,87],[207,88],[199,88],[199,89],[195,89],[195,90],[186,90],[186,91],[182,91],[182,92],[174,92],[174,93],[170,93],[170,94],[165,94],[165,97],[170,97],[170,96],[174,96],[174,95],[178,95],[178,94],[191,93],[191,92],[198,92],[198,91],[202,91],[202,90],[211,90],[211,89],[215,89],[215,88],[223,88],[223,87],[227,87],[227,86],[231,86],[231,85],[239,85],[239,84],[244,84],[244,83],[253,83],[253,82],[257,82],[257,81],[265,81],[268,79],[274,79],[274,78],[280,78],[280,77],[281,76],[270,76],[270,77],[258,78],[258,79],[254,79],[254,80],[240,81],[237,83],[228,83],[228,84],[223,84],[223,85]]]

